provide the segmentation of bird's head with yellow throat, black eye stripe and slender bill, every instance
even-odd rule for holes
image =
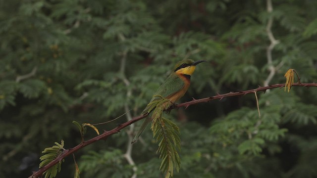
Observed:
[[[196,65],[205,62],[205,60],[194,61],[192,59],[184,59],[179,62],[174,67],[174,72],[178,75],[192,75],[195,71]]]

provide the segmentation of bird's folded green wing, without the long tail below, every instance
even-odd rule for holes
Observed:
[[[165,82],[159,87],[157,92],[154,95],[161,95],[162,97],[166,98],[169,95],[176,93],[177,91],[181,90],[184,87],[184,82],[176,75],[171,74],[167,77]],[[158,96],[153,96],[150,102],[160,99]],[[151,106],[147,106],[142,114],[148,113]]]

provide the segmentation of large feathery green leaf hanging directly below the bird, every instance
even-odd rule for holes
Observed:
[[[156,109],[152,115],[152,127],[153,137],[156,137],[156,141],[159,143],[158,153],[159,158],[162,159],[160,170],[166,172],[165,178],[173,177],[174,168],[179,171],[180,158],[178,150],[180,150],[180,138],[179,129],[172,121],[162,117],[163,109],[169,105],[168,99],[162,99],[159,101]]]

